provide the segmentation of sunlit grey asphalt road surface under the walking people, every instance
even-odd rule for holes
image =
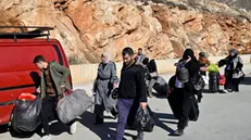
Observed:
[[[246,73],[251,72],[246,68]],[[163,75],[168,79],[171,75]],[[251,76],[246,77],[236,93],[204,93],[200,103],[200,117],[198,122],[189,122],[183,137],[172,137],[170,133],[176,129],[177,119],[172,115],[166,98],[160,97],[149,101],[155,112],[158,122],[153,132],[146,132],[145,140],[251,140]],[[91,84],[78,84],[75,88],[90,91]],[[68,135],[67,127],[53,124],[53,140],[113,140],[116,120],[106,114],[105,124],[93,125],[95,116],[86,112],[77,126],[75,135]],[[1,128],[0,140],[17,140],[16,136]],[[125,138],[131,140],[136,131],[126,130]],[[39,140],[38,133],[23,138],[25,140]]]

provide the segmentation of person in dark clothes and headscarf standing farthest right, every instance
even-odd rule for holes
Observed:
[[[239,84],[240,79],[244,75],[242,72],[243,61],[238,55],[238,51],[236,49],[231,49],[229,51],[229,55],[223,60],[221,60],[217,65],[219,67],[226,65],[225,67],[225,77],[226,84],[224,86],[225,90],[228,92],[239,92]]]

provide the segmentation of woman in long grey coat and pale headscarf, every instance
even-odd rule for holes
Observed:
[[[108,52],[102,53],[102,62],[93,85],[96,124],[103,124],[103,112],[111,112],[116,118],[116,100],[112,99],[112,90],[117,87],[116,65],[110,60]]]

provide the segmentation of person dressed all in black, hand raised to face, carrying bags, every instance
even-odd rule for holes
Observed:
[[[184,129],[188,125],[189,122],[189,115],[192,109],[192,103],[194,103],[194,88],[192,85],[193,77],[199,74],[200,64],[197,61],[193,51],[191,49],[187,49],[184,52],[183,59],[179,62],[185,62],[185,67],[188,69],[189,73],[189,81],[183,82],[181,87],[177,86],[176,84],[178,81],[175,81],[175,90],[178,91],[179,94],[178,102],[181,103],[181,111],[177,111],[178,116],[178,129],[175,130],[175,136],[181,136],[184,135]],[[177,78],[176,78],[177,80]],[[178,84],[179,85],[179,84]],[[176,91],[174,91],[176,93]],[[180,93],[181,92],[181,93]],[[181,96],[181,97],[180,97]],[[196,104],[196,106],[198,106]],[[199,110],[198,110],[199,111]],[[192,118],[197,119],[197,118]]]

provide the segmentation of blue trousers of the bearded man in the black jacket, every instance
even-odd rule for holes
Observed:
[[[118,124],[116,128],[116,140],[123,140],[124,138],[127,117],[133,104],[134,104],[134,99],[117,100]]]

